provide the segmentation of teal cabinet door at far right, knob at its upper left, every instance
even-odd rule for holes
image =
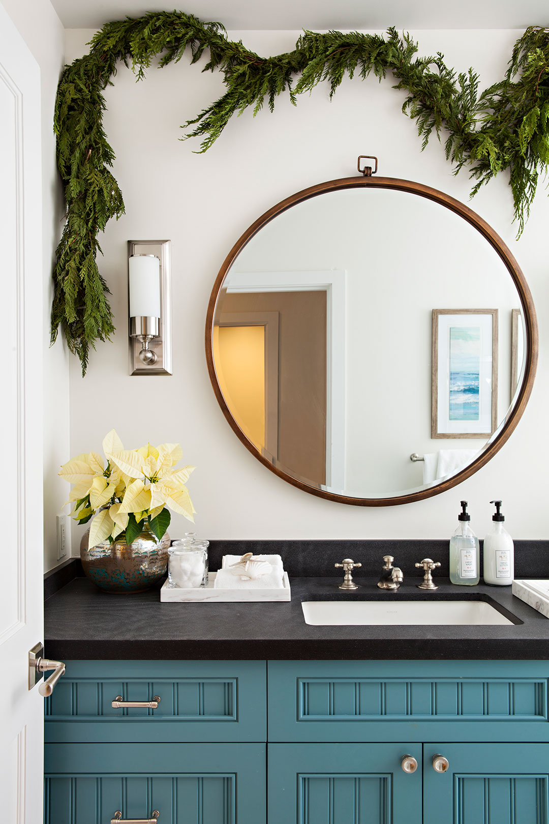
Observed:
[[[549,822],[549,744],[426,744],[423,783],[426,824]]]

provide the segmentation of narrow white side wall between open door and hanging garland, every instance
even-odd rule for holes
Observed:
[[[61,340],[49,348],[54,251],[63,228],[63,194],[55,162],[54,101],[63,70],[63,26],[49,0],[2,0],[40,66],[42,94],[42,209],[44,316],[44,570],[58,564],[55,515],[67,499],[58,468],[69,452],[68,353]],[[38,525],[37,525],[38,527]]]

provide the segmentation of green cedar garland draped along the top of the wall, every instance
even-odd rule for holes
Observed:
[[[442,54],[417,57],[417,44],[394,28],[387,35],[305,31],[287,54],[262,58],[227,40],[220,23],[203,23],[184,12],[150,12],[107,23],[91,40],[89,54],[64,70],[55,105],[58,169],[67,202],[67,222],[54,268],[51,341],[59,327],[86,373],[90,347],[114,333],[109,288],[96,263],[97,237],[110,218],[124,212],[122,193],[110,171],[114,151],[103,129],[103,91],[112,85],[117,63],[145,77],[153,59],[160,67],[177,63],[188,49],[196,63],[207,51],[203,71],[223,74],[226,92],[182,128],[184,138],[200,137],[206,152],[233,115],[249,106],[254,115],[264,101],[298,96],[328,82],[331,96],[345,77],[387,74],[404,91],[402,111],[416,120],[424,149],[430,135],[444,138],[446,158],[457,174],[468,166],[476,181],[472,194],[501,171],[509,172],[519,234],[528,218],[538,176],[549,164],[549,30],[531,26],[517,41],[505,79],[485,91],[470,68],[456,74]]]

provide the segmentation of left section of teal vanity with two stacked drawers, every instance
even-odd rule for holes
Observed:
[[[67,662],[44,824],[265,824],[265,677],[263,661]]]

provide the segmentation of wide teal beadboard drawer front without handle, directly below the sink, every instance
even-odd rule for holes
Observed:
[[[268,740],[549,741],[549,663],[275,661]]]

